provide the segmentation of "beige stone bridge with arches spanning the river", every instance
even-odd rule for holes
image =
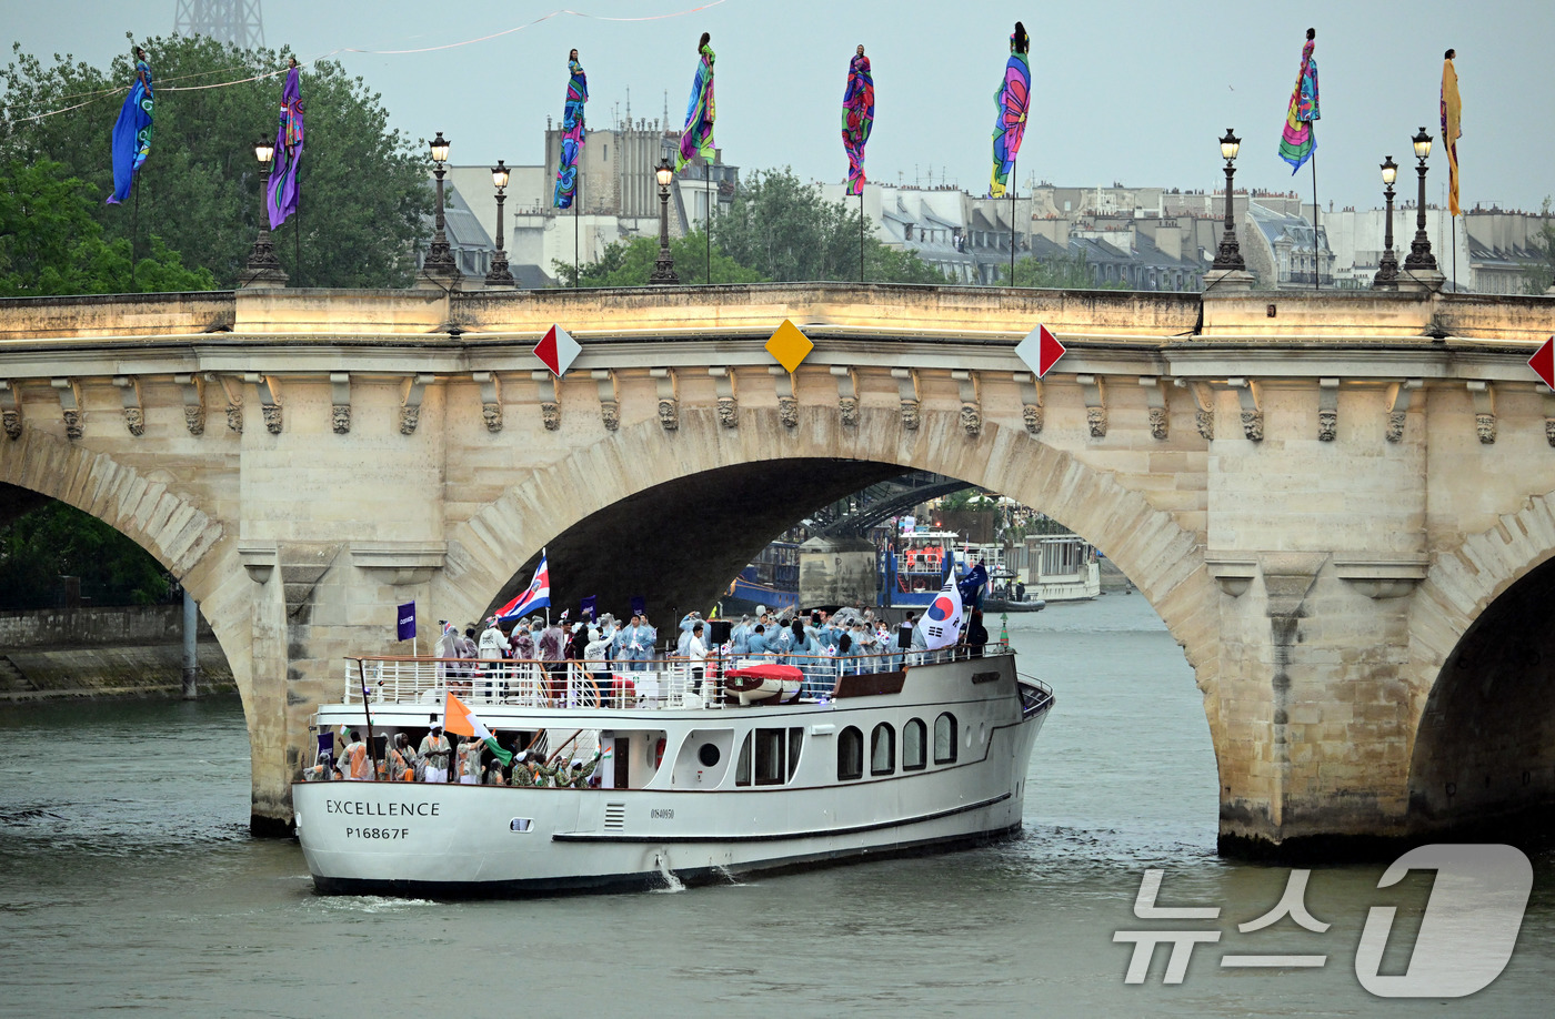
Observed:
[[[764,345],[815,343],[793,374]],[[1193,665],[1221,845],[1297,851],[1555,798],[1555,300],[771,284],[0,301],[0,482],[131,536],[243,691],[285,833],[342,656],[510,596],[706,606],[903,468],[1101,547]],[[552,325],[583,353],[557,381]],[[1034,379],[1015,343],[1068,354]],[[1098,654],[1106,654],[1098,648]],[[1029,668],[1029,666],[1028,666]],[[1140,733],[1148,739],[1149,733]],[[1098,777],[1098,781],[1106,780]]]

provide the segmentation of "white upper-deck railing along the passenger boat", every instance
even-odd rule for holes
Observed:
[[[1011,654],[989,643],[984,657]],[[722,674],[751,665],[784,663],[804,673],[801,694],[829,697],[841,676],[889,673],[903,666],[959,662],[970,648],[939,651],[885,648],[874,654],[756,654],[712,656],[706,662],[664,657],[641,662],[527,659],[348,657],[345,704],[426,704],[442,708],[451,693],[470,705],[526,708],[722,708]]]

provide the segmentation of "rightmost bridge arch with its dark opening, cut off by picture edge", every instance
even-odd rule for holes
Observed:
[[[1410,617],[1409,822],[1518,825],[1555,798],[1555,492],[1432,562]]]

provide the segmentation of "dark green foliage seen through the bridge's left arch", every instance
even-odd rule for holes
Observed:
[[[0,609],[50,607],[61,576],[79,576],[93,604],[156,604],[169,587],[145,548],[62,502],[0,528]]]

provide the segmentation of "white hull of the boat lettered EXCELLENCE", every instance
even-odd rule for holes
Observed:
[[[967,747],[975,760],[889,780],[720,792],[313,781],[292,803],[323,893],[644,889],[1006,837],[1043,718],[992,727]]]

